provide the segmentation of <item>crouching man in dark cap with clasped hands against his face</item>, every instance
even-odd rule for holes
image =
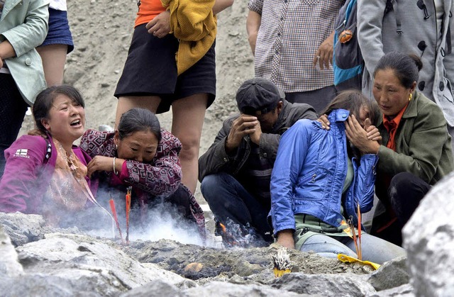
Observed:
[[[215,233],[226,246],[272,242],[267,215],[279,140],[299,119],[317,118],[314,108],[289,103],[284,96],[267,79],[248,79],[236,94],[240,115],[224,121],[199,158],[201,193],[216,218]]]

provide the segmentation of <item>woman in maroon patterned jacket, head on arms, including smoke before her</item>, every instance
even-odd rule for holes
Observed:
[[[180,242],[204,241],[203,211],[182,184],[182,143],[160,127],[154,113],[132,108],[123,113],[114,132],[87,130],[80,148],[92,157],[88,174],[99,179],[99,203],[109,208],[108,201],[114,201],[121,229],[131,223],[134,238],[160,239],[175,232],[172,238]],[[126,202],[128,189],[131,208]],[[170,230],[164,235],[165,225]],[[185,234],[196,236],[183,240]]]

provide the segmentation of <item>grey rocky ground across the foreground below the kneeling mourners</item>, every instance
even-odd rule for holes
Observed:
[[[406,258],[377,271],[289,251],[291,273],[273,274],[279,247],[216,249],[172,240],[118,240],[56,229],[40,215],[0,213],[2,296],[402,296]],[[397,293],[396,293],[397,292]],[[409,295],[412,296],[412,295]]]

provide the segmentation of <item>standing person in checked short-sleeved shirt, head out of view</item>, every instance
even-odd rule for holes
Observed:
[[[343,0],[250,0],[246,27],[255,76],[270,79],[292,103],[317,112],[336,95],[333,31]]]

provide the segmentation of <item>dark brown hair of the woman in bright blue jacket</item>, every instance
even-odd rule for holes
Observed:
[[[350,111],[350,115],[354,115],[357,119],[360,118],[360,109],[365,107],[369,110],[369,119],[372,124],[375,125],[380,116],[380,109],[378,108],[377,102],[367,99],[361,91],[358,90],[346,90],[336,96],[331,103],[326,106],[325,111],[321,114],[330,114],[331,111],[343,108]]]

